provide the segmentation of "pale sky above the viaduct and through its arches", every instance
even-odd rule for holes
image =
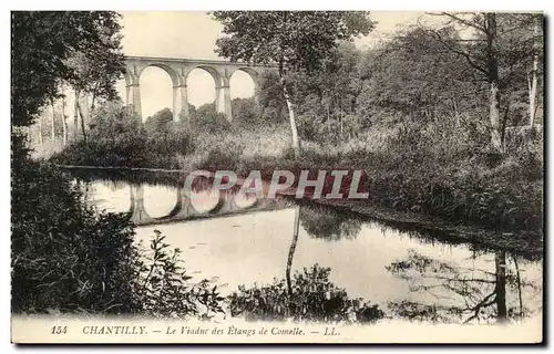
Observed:
[[[206,12],[121,12],[123,15],[123,52],[125,55],[170,56],[183,59],[219,59],[215,53],[215,41],[220,35],[222,25]],[[416,23],[421,12],[371,12],[377,21],[376,29],[355,44],[369,48],[377,41],[387,39],[401,24]],[[124,81],[117,90],[125,97]],[[141,75],[141,103],[143,119],[155,112],[172,107],[173,91],[170,76],[158,67],[147,67]],[[187,77],[188,102],[196,107],[215,100],[212,76],[196,69]],[[254,83],[248,74],[237,71],[230,79],[230,95],[250,97]]]

